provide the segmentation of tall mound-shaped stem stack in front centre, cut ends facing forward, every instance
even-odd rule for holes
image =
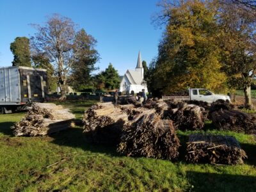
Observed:
[[[162,120],[155,109],[148,109],[124,126],[117,151],[127,156],[177,159],[178,148],[172,121]]]

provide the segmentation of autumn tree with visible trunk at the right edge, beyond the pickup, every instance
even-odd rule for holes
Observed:
[[[231,88],[242,88],[245,106],[252,106],[250,87],[256,74],[255,12],[244,12],[229,4],[221,4],[220,45],[223,71]]]

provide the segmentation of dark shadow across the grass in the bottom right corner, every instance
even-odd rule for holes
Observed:
[[[255,191],[256,177],[225,173],[186,172],[191,191]]]

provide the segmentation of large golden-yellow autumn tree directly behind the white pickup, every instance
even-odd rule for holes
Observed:
[[[151,89],[163,94],[188,87],[220,89],[226,77],[220,71],[216,10],[200,1],[168,7],[168,24],[154,63]]]

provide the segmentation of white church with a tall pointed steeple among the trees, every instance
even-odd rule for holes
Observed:
[[[125,92],[126,94],[142,92],[145,89],[145,92],[148,92],[147,84],[144,80],[144,68],[142,67],[141,54],[139,52],[137,66],[135,70],[128,69],[122,81],[120,83],[120,92]]]

